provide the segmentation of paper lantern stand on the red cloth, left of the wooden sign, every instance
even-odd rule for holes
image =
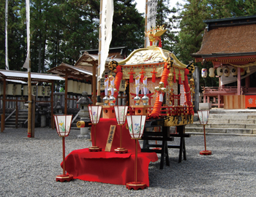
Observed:
[[[91,118],[91,124],[94,125],[94,145],[89,147],[90,152],[99,152],[102,151],[101,147],[96,145],[96,125],[99,123],[99,117],[102,112],[102,106],[88,106],[89,115]]]

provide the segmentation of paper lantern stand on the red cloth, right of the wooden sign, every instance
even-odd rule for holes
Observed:
[[[128,150],[122,147],[122,131],[121,126],[124,125],[126,117],[127,117],[127,110],[128,106],[115,106],[114,107],[116,112],[116,122],[120,125],[120,147],[115,149],[116,153],[127,153]]]

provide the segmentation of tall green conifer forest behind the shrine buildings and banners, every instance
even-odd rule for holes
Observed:
[[[145,0],[141,0],[145,1]],[[98,48],[100,0],[31,0],[31,72],[46,72],[61,62],[74,65],[81,50]],[[114,0],[113,33],[110,47],[127,46],[128,53],[144,47],[145,15],[135,0]],[[0,0],[0,69],[5,69],[5,0]],[[162,48],[183,63],[200,50],[206,23],[203,20],[256,15],[255,0],[188,0],[170,7],[158,0],[157,25],[165,25]],[[10,70],[26,71],[26,4],[9,0],[8,57]],[[199,69],[200,63],[195,63]],[[203,65],[207,69],[212,65]],[[203,82],[204,84],[204,82]],[[218,80],[206,78],[207,86]]]

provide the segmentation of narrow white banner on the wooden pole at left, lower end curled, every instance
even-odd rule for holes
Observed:
[[[26,42],[27,42],[27,54],[26,61],[23,64],[23,68],[29,69],[29,61],[30,61],[30,7],[29,0],[26,0]]]

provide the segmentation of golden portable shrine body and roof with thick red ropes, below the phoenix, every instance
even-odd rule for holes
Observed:
[[[113,80],[113,72],[116,77],[114,85],[110,85],[105,93],[112,87],[111,94],[117,99],[121,80],[126,80],[129,106],[133,107],[135,96],[146,95],[149,97],[148,118],[164,117],[165,126],[193,123],[195,82],[192,73],[195,66],[192,62],[185,65],[170,51],[153,45],[134,50],[124,61],[110,61],[108,68],[108,78]],[[191,75],[190,80],[188,75]],[[141,92],[138,93],[138,90]],[[140,104],[140,101],[136,102]]]

